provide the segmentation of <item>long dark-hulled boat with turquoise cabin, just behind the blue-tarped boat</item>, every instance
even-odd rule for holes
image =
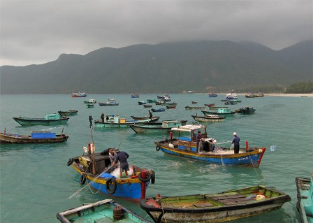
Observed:
[[[30,125],[53,125],[53,124],[66,124],[69,117],[63,117],[60,114],[52,113],[45,114],[45,117],[13,117],[18,124],[22,126]]]

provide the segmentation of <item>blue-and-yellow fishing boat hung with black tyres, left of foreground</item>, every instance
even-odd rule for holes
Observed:
[[[94,144],[88,143],[81,156],[68,159],[67,166],[73,166],[80,174],[80,185],[87,182],[97,191],[126,199],[145,198],[150,182],[155,182],[154,171],[129,164],[128,176],[123,173],[121,178],[119,168],[111,166],[109,149],[97,153],[95,150]]]

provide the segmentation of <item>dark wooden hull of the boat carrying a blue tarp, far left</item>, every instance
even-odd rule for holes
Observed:
[[[68,135],[56,135],[55,138],[31,138],[18,134],[0,133],[0,144],[28,144],[28,143],[63,143],[68,139]]]

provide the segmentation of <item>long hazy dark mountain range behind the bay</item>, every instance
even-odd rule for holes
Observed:
[[[247,92],[313,80],[313,40],[282,50],[259,43],[183,41],[62,54],[46,64],[1,66],[1,94]]]

